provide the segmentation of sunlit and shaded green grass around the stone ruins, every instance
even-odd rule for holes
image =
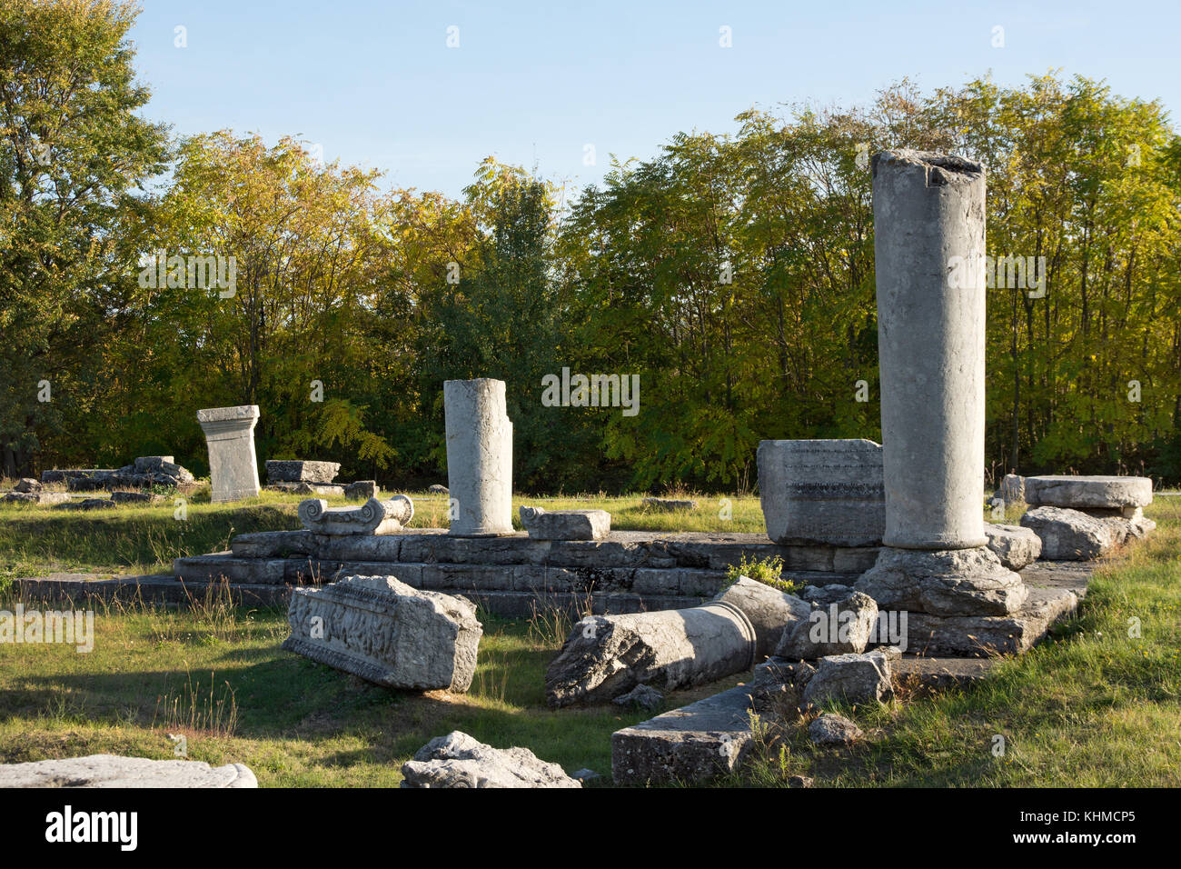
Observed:
[[[151,559],[170,559],[172,550],[159,549],[157,557],[144,549],[137,537],[148,530],[161,547],[208,551],[230,533],[294,527],[298,500],[267,495],[233,511],[194,504],[188,523],[197,525],[185,525],[183,538],[169,537],[171,507],[92,519],[66,514],[73,523],[67,527],[60,513],[6,506],[0,557],[6,570],[126,570],[130,563],[150,569],[167,564]],[[442,499],[416,504],[416,525],[439,524],[431,511],[445,519]],[[573,501],[553,506],[559,504]],[[645,515],[639,498],[605,506],[615,527],[672,521],[762,528],[755,499],[733,499],[731,520],[718,519],[706,504],[691,521]],[[1078,615],[1061,623],[1050,642],[1000,662],[985,683],[934,696],[903,686],[889,706],[853,709],[867,739],[850,748],[813,746],[798,721],[768,724],[756,763],[718,784],[783,785],[790,774],[807,774],[818,786],[1181,785],[1181,500],[1157,499],[1148,512],[1160,524],[1156,533],[1101,565]],[[105,546],[92,551],[70,541],[81,533],[78,523],[117,526],[90,526],[92,545]],[[112,547],[112,539],[124,540],[124,549]],[[13,605],[11,595],[0,599],[0,609]],[[647,714],[548,709],[544,670],[569,623],[547,614],[523,621],[482,614],[482,621],[471,692],[418,695],[368,686],[280,650],[287,629],[279,611],[216,599],[184,612],[99,611],[94,649],[86,654],[0,643],[0,761],[97,752],[168,758],[174,734],[185,737],[189,758],[244,763],[263,786],[392,785],[415,750],[462,729],[491,745],[523,745],[567,771],[609,776],[609,734]],[[1140,636],[1129,636],[1134,624]],[[666,708],[743,677],[672,694]],[[998,735],[1005,748],[999,755]]]

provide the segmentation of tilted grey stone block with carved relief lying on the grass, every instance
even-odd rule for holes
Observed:
[[[465,692],[483,627],[462,597],[396,577],[345,577],[292,594],[283,648],[389,688]]]

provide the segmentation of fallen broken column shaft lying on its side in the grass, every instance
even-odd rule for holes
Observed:
[[[755,663],[750,620],[715,601],[683,610],[588,616],[546,672],[546,702],[595,703],[637,685],[673,690],[712,682]]]

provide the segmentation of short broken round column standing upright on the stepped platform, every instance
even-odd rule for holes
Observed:
[[[445,381],[446,469],[457,537],[513,533],[513,422],[504,381]]]

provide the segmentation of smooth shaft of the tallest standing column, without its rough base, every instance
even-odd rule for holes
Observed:
[[[985,171],[873,158],[887,546],[983,546]]]

